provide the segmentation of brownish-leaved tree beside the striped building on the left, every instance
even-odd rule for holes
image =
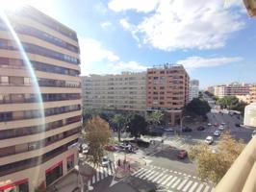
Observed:
[[[92,117],[86,124],[86,133],[83,135],[89,143],[87,159],[93,165],[99,165],[104,156],[104,146],[111,139],[109,124],[99,116]]]

